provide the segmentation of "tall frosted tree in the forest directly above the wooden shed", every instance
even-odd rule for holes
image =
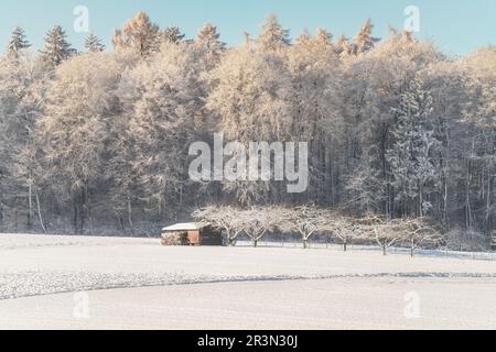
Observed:
[[[187,148],[203,108],[194,46],[164,44],[120,85],[129,116],[126,138],[136,151],[136,167],[149,205],[159,216],[181,209],[188,182]]]

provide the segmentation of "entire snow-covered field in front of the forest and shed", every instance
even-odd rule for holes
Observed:
[[[0,234],[0,329],[496,329],[496,262]]]

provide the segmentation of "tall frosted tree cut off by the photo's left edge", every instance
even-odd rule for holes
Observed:
[[[4,208],[9,206],[15,222],[23,222],[33,230],[35,205],[41,230],[45,230],[40,209],[42,173],[36,152],[35,122],[43,109],[44,91],[50,84],[43,63],[32,53],[22,51],[15,61],[6,58],[0,73],[0,129],[2,142],[2,176],[9,178],[11,197],[3,198]],[[3,146],[3,147],[2,147]],[[1,177],[0,177],[1,178]],[[1,188],[1,182],[0,182]],[[10,198],[9,201],[6,201]],[[6,215],[7,217],[7,215]]]

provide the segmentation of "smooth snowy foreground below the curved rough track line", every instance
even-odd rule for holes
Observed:
[[[420,317],[407,319],[405,295]],[[0,301],[6,329],[495,329],[494,279],[331,279],[222,283],[88,293],[89,316],[74,317],[74,295]],[[222,298],[222,299],[219,299]]]

